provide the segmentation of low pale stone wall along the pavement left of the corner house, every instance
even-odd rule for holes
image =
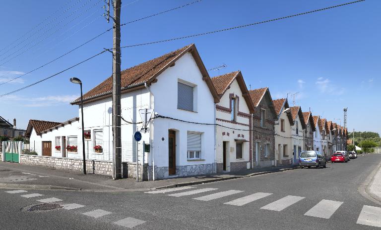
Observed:
[[[20,155],[20,164],[38,165],[63,170],[83,171],[83,161],[67,157]],[[113,175],[113,162],[86,160],[86,172],[93,174]]]

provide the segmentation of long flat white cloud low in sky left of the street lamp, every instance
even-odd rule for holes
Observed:
[[[12,102],[18,101],[23,102],[21,105],[25,107],[47,107],[55,106],[59,104],[69,103],[77,99],[78,95],[50,95],[43,97],[25,97],[17,95],[7,95],[0,97],[0,101]]]

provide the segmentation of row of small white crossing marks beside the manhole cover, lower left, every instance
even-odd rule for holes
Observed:
[[[179,187],[179,188],[176,188],[176,189],[172,188],[172,189],[167,189],[167,191],[178,191],[178,190],[184,190],[184,189],[189,189],[189,188],[193,188],[193,187]],[[27,190],[8,190],[8,191],[5,191],[5,192],[9,193],[9,194],[19,194],[19,193],[22,193],[22,195],[20,195],[20,196],[23,197],[23,198],[28,198],[28,199],[31,199],[31,198],[34,198],[34,197],[44,196],[44,194],[40,194],[40,193],[25,194],[25,193],[28,192]],[[158,193],[158,190],[157,191],[152,191],[150,193],[152,193],[152,194]],[[163,193],[163,190],[161,190],[160,193]],[[56,198],[56,197],[39,199],[39,200],[36,200],[36,201],[41,202],[41,203],[60,202],[59,203],[60,207],[62,209],[64,209],[64,210],[77,210],[77,209],[81,209],[83,207],[86,207],[85,205],[76,204],[76,203],[61,204],[62,202],[64,202],[64,200],[62,200],[60,198]],[[98,219],[98,218],[101,218],[101,217],[104,217],[104,216],[112,214],[112,212],[109,212],[109,211],[106,211],[106,210],[102,210],[102,209],[95,209],[95,210],[91,210],[91,211],[88,211],[88,212],[83,212],[82,211],[81,213],[82,213],[82,215],[85,215],[85,216],[87,216],[89,218],[95,218],[95,219]],[[143,220],[135,219],[135,218],[132,218],[132,217],[127,217],[125,219],[116,221],[113,224],[114,225],[118,225],[118,226],[122,226],[122,227],[126,227],[126,228],[129,228],[129,229],[132,229],[132,228],[134,228],[136,226],[139,226],[139,225],[142,225],[144,223],[146,223],[146,222],[143,221]]]

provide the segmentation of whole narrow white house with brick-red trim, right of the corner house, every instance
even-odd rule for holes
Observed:
[[[250,169],[252,163],[250,98],[241,71],[212,78],[220,96],[216,104],[216,163],[217,172]]]

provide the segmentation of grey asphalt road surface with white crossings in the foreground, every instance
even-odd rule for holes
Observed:
[[[325,169],[297,169],[166,193],[0,189],[0,229],[381,230],[381,205],[359,191],[380,162],[381,155],[366,155]],[[32,193],[41,196],[22,196]],[[22,210],[53,197],[61,199],[61,208]],[[360,215],[363,209],[367,216]]]

